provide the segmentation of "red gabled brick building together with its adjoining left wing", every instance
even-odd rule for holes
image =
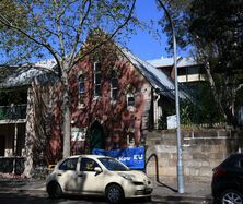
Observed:
[[[51,60],[46,63],[55,65]],[[16,156],[8,152],[21,148],[20,156],[31,154],[34,165],[54,164],[62,157],[61,85],[51,73],[28,70],[25,74],[2,83],[3,89],[24,85],[27,104],[18,133],[13,130],[20,124],[7,121],[12,125],[11,140],[0,125],[2,156]],[[158,128],[166,107],[174,106],[172,87],[166,74],[115,43],[78,61],[69,73],[71,155],[144,145],[147,132]],[[184,92],[180,96],[188,97]]]

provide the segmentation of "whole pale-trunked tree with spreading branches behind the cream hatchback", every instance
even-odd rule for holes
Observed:
[[[118,36],[124,37],[137,23],[134,16],[136,0],[4,0],[5,7],[13,2],[16,10],[9,15],[4,4],[0,11],[0,46],[4,67],[35,67],[33,61],[54,58],[51,71],[62,86],[63,157],[70,155],[70,104],[68,74],[72,67],[101,45]],[[22,11],[24,8],[25,12]],[[27,26],[22,26],[23,19]],[[106,33],[94,45],[79,52],[91,33]],[[127,32],[126,32],[127,31]],[[121,35],[123,34],[123,35]],[[11,44],[10,44],[11,43]],[[14,55],[13,55],[14,53]],[[8,63],[7,63],[8,62]]]

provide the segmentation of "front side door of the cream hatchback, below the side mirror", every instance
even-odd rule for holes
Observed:
[[[102,194],[104,192],[104,172],[94,171],[101,166],[93,158],[82,157],[78,170],[78,191],[83,194]]]

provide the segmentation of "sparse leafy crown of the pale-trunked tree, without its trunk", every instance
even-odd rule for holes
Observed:
[[[116,34],[113,37],[119,39],[138,23],[131,10],[135,0],[3,1],[0,9],[7,12],[0,12],[1,63],[10,59],[12,63],[49,58],[70,61],[93,29]]]

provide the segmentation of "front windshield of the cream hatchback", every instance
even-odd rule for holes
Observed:
[[[123,165],[115,158],[99,158],[99,160],[111,171],[128,171],[130,170],[127,166]]]

